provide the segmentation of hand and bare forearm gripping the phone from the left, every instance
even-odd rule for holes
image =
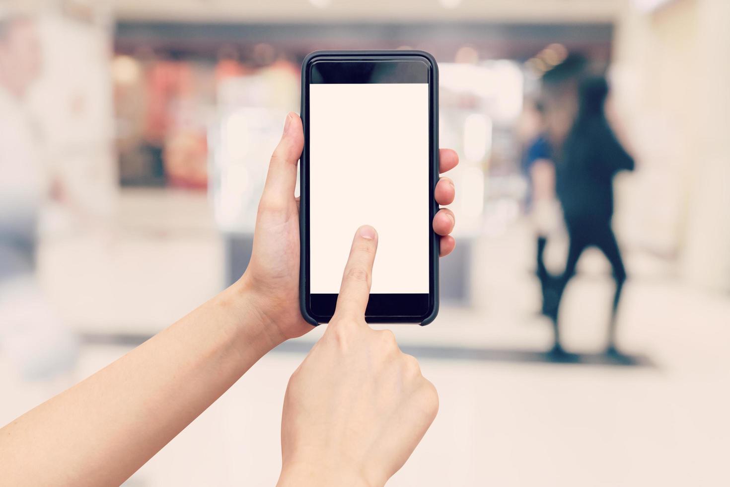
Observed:
[[[0,483],[118,486],[231,387],[259,358],[312,326],[299,312],[296,164],[304,135],[290,113],[258,208],[251,261],[231,287],[118,361],[0,429]],[[458,163],[442,150],[442,172]],[[453,183],[436,188],[453,201]],[[453,213],[434,231],[453,250]]]

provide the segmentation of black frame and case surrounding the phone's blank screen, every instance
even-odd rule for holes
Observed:
[[[320,62],[353,63],[401,63],[412,64],[419,61],[427,66],[429,83],[429,294],[371,294],[366,321],[368,323],[420,323],[426,325],[436,318],[439,308],[439,237],[431,227],[434,215],[439,210],[434,199],[434,188],[439,180],[439,142],[438,142],[438,68],[433,56],[416,50],[378,50],[378,51],[317,51],[310,53],[302,63],[301,72],[301,120],[304,124],[304,151],[300,164],[300,307],[301,314],[309,323],[317,325],[327,323],[332,315],[315,312],[312,309],[310,294],[310,227],[309,227],[309,85],[311,83],[312,66]],[[367,83],[367,80],[363,80]],[[349,80],[347,83],[357,83]],[[382,83],[382,82],[381,82]],[[334,310],[337,294],[315,294],[320,304],[326,302],[328,309]],[[423,310],[423,301],[427,299],[424,312],[417,312],[415,306]],[[323,301],[324,300],[324,301]],[[420,304],[419,304],[420,303]],[[412,306],[412,309],[406,309]],[[316,306],[315,306],[316,307]],[[377,314],[372,314],[376,311]]]

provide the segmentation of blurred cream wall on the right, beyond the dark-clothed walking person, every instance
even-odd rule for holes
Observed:
[[[730,291],[728,18],[724,0],[626,1],[612,70],[637,156],[629,233],[715,291]]]

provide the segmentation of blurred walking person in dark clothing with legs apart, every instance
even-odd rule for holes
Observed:
[[[577,78],[573,78],[575,81]],[[608,332],[607,353],[620,355],[616,347],[616,314],[626,281],[621,251],[611,221],[613,177],[634,169],[615,137],[605,114],[609,85],[603,76],[584,76],[577,83],[575,121],[556,151],[556,193],[563,208],[569,236],[566,266],[548,300],[548,316],[555,327],[553,353],[564,353],[558,333],[558,310],[566,285],[575,275],[583,250],[591,246],[604,253],[612,266],[616,284]]]

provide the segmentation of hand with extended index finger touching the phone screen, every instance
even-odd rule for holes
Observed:
[[[334,317],[289,380],[279,486],[383,486],[436,417],[418,361],[365,322],[377,242],[358,229]]]

